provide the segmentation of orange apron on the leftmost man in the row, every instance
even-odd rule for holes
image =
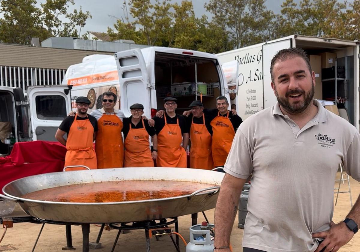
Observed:
[[[96,154],[94,151],[94,127],[89,118],[76,120],[72,123],[66,141],[65,167],[69,165],[85,165],[96,169]],[[66,171],[84,170],[82,167],[68,168]]]

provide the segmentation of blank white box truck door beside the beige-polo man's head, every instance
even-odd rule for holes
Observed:
[[[274,55],[278,51],[286,48],[291,48],[291,39],[276,41],[262,46],[262,69],[264,71],[264,77],[262,83],[264,86],[264,108],[274,106],[276,103],[276,96],[271,88],[271,75],[270,75],[270,63]]]

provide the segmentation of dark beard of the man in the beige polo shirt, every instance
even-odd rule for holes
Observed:
[[[290,104],[287,97],[289,95],[298,94],[298,93],[305,94],[304,101]],[[309,106],[310,102],[312,102],[312,98],[314,97],[314,94],[315,94],[314,84],[312,84],[311,90],[307,93],[305,93],[304,90],[289,90],[286,93],[285,97],[279,96],[278,91],[275,89],[275,95],[276,95],[276,98],[278,98],[278,102],[279,102],[280,106],[282,108],[284,108],[286,111],[294,113],[294,114],[299,114],[299,113],[303,112],[307,108],[307,106]]]

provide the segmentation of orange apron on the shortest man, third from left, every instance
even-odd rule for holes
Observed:
[[[124,141],[124,167],[154,167],[149,147],[149,134],[142,118],[141,123],[143,123],[142,129],[132,129],[130,123],[129,133]]]

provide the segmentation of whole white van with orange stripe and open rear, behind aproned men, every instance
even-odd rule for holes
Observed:
[[[87,56],[67,69],[62,82],[73,86],[72,107],[78,96],[87,96],[90,111],[102,108],[102,93],[112,91],[118,96],[116,108],[125,116],[131,115],[132,104],[141,103],[147,117],[163,108],[167,96],[178,98],[178,113],[195,99],[214,107],[217,96],[228,95],[225,83],[216,55],[163,47],[120,51],[115,58]]]

